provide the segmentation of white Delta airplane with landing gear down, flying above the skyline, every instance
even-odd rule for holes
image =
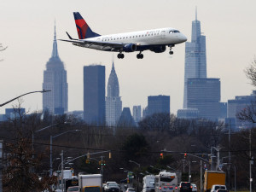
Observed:
[[[144,50],[151,50],[154,53],[162,53],[166,51],[166,46],[170,48],[169,54],[172,55],[172,47],[174,47],[175,44],[182,44],[187,41],[187,38],[183,33],[170,27],[139,32],[100,35],[90,29],[90,26],[79,12],[73,12],[73,16],[77,26],[79,39],[72,38],[67,33],[69,40],[59,40],[70,42],[79,47],[119,52],[117,55],[119,59],[125,57],[123,52],[129,53],[135,51],[139,51],[137,59],[143,59],[142,52]]]

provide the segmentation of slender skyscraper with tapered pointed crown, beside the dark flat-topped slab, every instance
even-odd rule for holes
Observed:
[[[108,78],[108,96],[106,96],[106,124],[116,126],[122,113],[122,101],[119,96],[119,79],[112,65]]]

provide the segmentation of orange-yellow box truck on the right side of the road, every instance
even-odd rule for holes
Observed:
[[[206,171],[204,176],[204,192],[210,192],[212,185],[225,185],[226,173],[218,171]]]

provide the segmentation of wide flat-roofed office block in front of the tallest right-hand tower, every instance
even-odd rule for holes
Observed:
[[[220,116],[219,79],[188,79],[188,108],[197,108],[198,116],[216,120]]]

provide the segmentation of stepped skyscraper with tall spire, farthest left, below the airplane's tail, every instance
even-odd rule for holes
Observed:
[[[58,54],[56,32],[52,54],[44,71],[43,90],[51,90],[43,94],[44,110],[53,114],[67,112],[67,71]]]

